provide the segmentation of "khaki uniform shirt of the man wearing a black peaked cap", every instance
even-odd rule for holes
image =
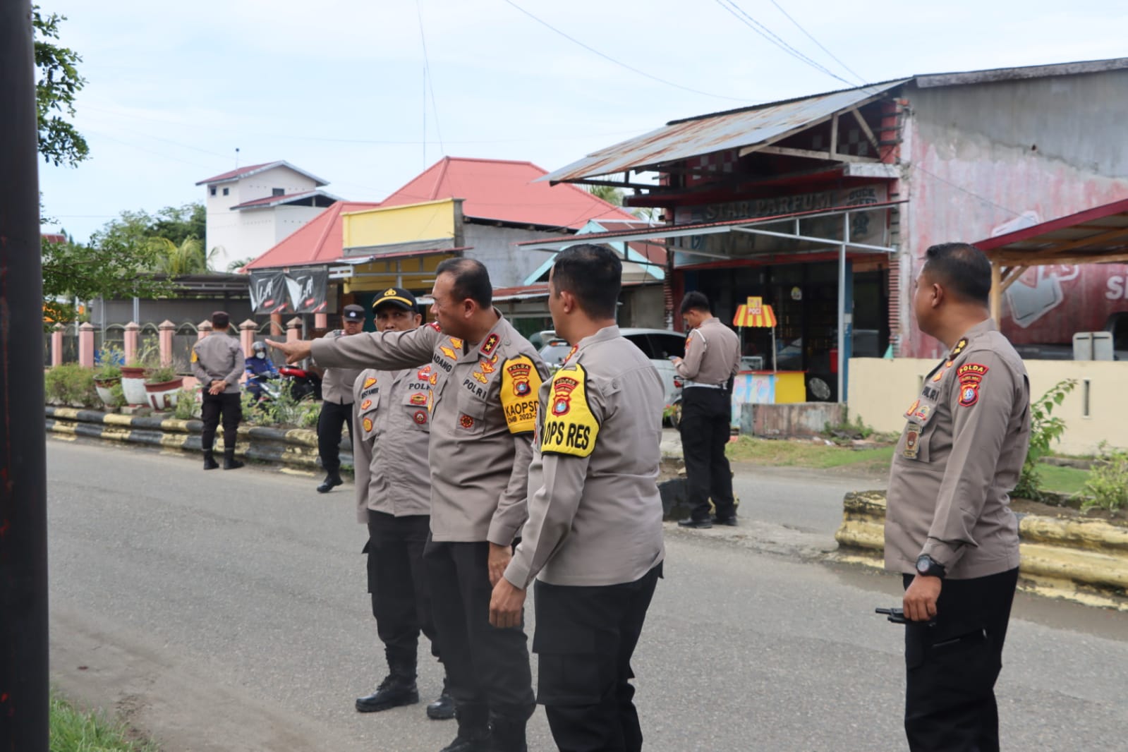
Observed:
[[[429,369],[361,371],[353,387],[356,521],[431,514]]]

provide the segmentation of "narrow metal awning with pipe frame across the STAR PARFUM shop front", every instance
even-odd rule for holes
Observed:
[[[525,250],[561,250],[567,248],[569,246],[579,246],[581,244],[592,242],[629,242],[632,240],[661,240],[669,238],[685,238],[699,235],[716,235],[721,232],[750,232],[752,235],[764,235],[768,237],[782,238],[785,240],[801,240],[805,242],[822,244],[830,247],[838,247],[845,245],[852,250],[861,250],[867,253],[881,253],[891,254],[896,253],[896,248],[889,248],[885,246],[872,246],[867,244],[852,242],[848,237],[843,238],[821,238],[803,235],[800,231],[800,222],[803,220],[816,219],[820,216],[847,216],[855,212],[871,212],[876,209],[888,209],[890,206],[897,206],[900,204],[908,203],[906,200],[901,201],[885,201],[876,204],[857,204],[854,206],[834,206],[830,209],[814,210],[809,212],[794,212],[791,214],[776,214],[775,216],[763,216],[757,219],[738,219],[738,220],[723,220],[719,222],[693,222],[686,224],[663,224],[655,228],[646,228],[642,230],[616,230],[614,232],[587,232],[583,235],[569,235],[561,236],[557,238],[546,238],[545,240],[525,240],[521,242],[514,242],[513,245],[518,248]],[[791,230],[783,231],[768,230],[763,225],[769,224],[781,224],[788,223]],[[679,247],[668,247],[669,250],[676,250],[678,253],[690,254],[696,256],[710,256],[711,254],[700,253],[697,250],[689,250],[687,248]]]

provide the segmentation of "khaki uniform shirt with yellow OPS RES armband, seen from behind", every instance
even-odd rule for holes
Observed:
[[[654,364],[618,327],[580,340],[540,388],[529,521],[505,569],[510,583],[615,585],[664,558],[664,404]]]

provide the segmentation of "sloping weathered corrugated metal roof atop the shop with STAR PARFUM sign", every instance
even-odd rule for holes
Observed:
[[[540,179],[553,183],[582,180],[763,143],[809,127],[909,80],[899,79],[860,89],[671,121],[656,131],[600,149]]]

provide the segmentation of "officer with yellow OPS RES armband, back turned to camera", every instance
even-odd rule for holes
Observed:
[[[565,752],[642,750],[631,656],[662,576],[664,390],[615,325],[622,275],[601,246],[556,256],[548,309],[573,347],[540,389],[529,521],[490,607],[519,626],[536,580],[537,701]]]

